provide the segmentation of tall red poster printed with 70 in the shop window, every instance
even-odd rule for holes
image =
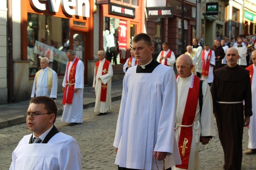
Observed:
[[[119,53],[120,53],[120,63],[125,63],[126,50],[127,50],[127,21],[120,20],[118,27],[118,41],[119,41]]]

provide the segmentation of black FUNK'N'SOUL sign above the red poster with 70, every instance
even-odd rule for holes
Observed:
[[[110,3],[108,7],[108,14],[122,16],[126,18],[135,18],[135,8],[113,3]]]

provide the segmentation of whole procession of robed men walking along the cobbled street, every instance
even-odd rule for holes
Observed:
[[[256,108],[253,104],[256,100],[256,50],[249,54],[252,64],[248,66],[247,47],[239,37],[238,45],[233,47],[226,45],[224,39],[215,39],[211,49],[207,44],[202,48],[199,43],[198,39],[192,39],[192,44],[186,47],[187,52],[175,56],[172,45],[164,42],[163,50],[154,59],[154,45],[148,34],[140,33],[132,39],[131,57],[126,57],[122,67],[122,99],[113,141],[116,169],[199,170],[199,145],[202,143],[207,148],[218,131],[224,152],[223,169],[240,170],[244,127],[248,127],[249,135],[248,150],[244,153],[256,153]],[[105,59],[105,51],[98,51],[97,56],[92,84],[94,112],[107,117],[111,111],[114,69]],[[66,57],[61,121],[72,128],[86,123],[83,119],[85,68],[75,51],[68,50]],[[54,124],[58,78],[48,65],[48,58],[43,57],[41,70],[34,78],[32,100],[24,114],[32,135],[25,136],[14,150],[10,169],[26,167],[30,155],[24,153],[29,146],[33,149],[31,154],[34,153],[33,168],[40,164],[65,169],[62,168],[65,164],[68,168],[81,169],[76,140],[59,133]],[[65,151],[58,137],[67,148],[71,142],[70,147],[74,150],[68,149],[67,155],[46,151],[46,146],[58,146],[57,150]],[[46,145],[41,147],[40,143]],[[41,153],[43,157],[54,157],[54,163],[40,162]],[[24,158],[26,161],[22,161]]]

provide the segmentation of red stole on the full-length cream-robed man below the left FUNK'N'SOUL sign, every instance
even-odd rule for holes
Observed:
[[[107,74],[108,73],[108,66],[109,66],[110,62],[108,60],[105,59],[105,62],[103,64],[103,67],[102,67],[102,74],[101,75],[104,75],[104,74]],[[97,63],[95,64],[95,81],[96,81],[96,75],[97,75],[97,71],[98,71],[98,67],[100,65],[100,60],[97,61]],[[96,82],[95,82],[96,84]],[[103,84],[101,83],[101,91],[100,91],[100,102],[106,102],[106,99],[107,99],[107,85],[108,83],[106,84]]]

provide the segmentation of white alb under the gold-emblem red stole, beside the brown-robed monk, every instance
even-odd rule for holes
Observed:
[[[184,109],[188,97],[189,88],[193,87],[194,74],[192,73],[187,78],[178,78],[178,106],[176,113],[176,124],[181,124],[184,114]],[[199,143],[200,134],[201,136],[216,136],[213,108],[212,108],[212,95],[210,92],[210,86],[203,82],[202,84],[203,93],[203,105],[202,105],[202,115],[200,116],[200,106],[199,100],[196,108],[196,115],[194,119],[193,127],[193,137],[191,143],[191,150],[188,162],[188,170],[200,170],[199,164]],[[198,124],[199,123],[199,124]],[[198,128],[197,128],[198,127]],[[176,140],[179,141],[181,127],[176,129]],[[196,135],[198,131],[198,135]],[[172,167],[172,170],[183,170],[181,168]]]

